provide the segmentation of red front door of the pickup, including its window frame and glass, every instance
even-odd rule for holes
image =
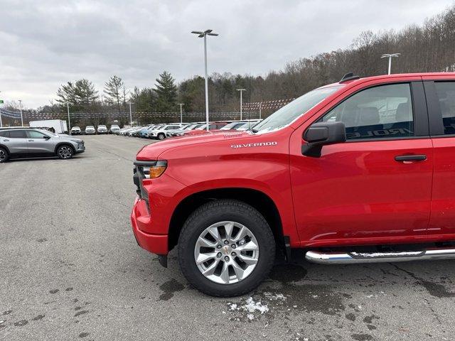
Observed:
[[[323,146],[321,157],[291,147],[294,211],[304,245],[382,244],[424,236],[433,148],[423,115],[422,82],[413,82],[359,90],[316,119],[342,121],[347,141]],[[294,131],[292,145],[305,144],[304,129]],[[403,161],[402,156],[425,159]]]

